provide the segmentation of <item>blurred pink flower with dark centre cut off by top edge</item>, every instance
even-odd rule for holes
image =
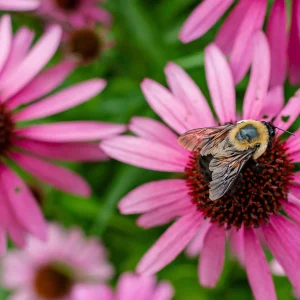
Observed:
[[[110,25],[111,14],[98,0],[43,0],[37,13],[52,22],[80,28],[90,24]]]

